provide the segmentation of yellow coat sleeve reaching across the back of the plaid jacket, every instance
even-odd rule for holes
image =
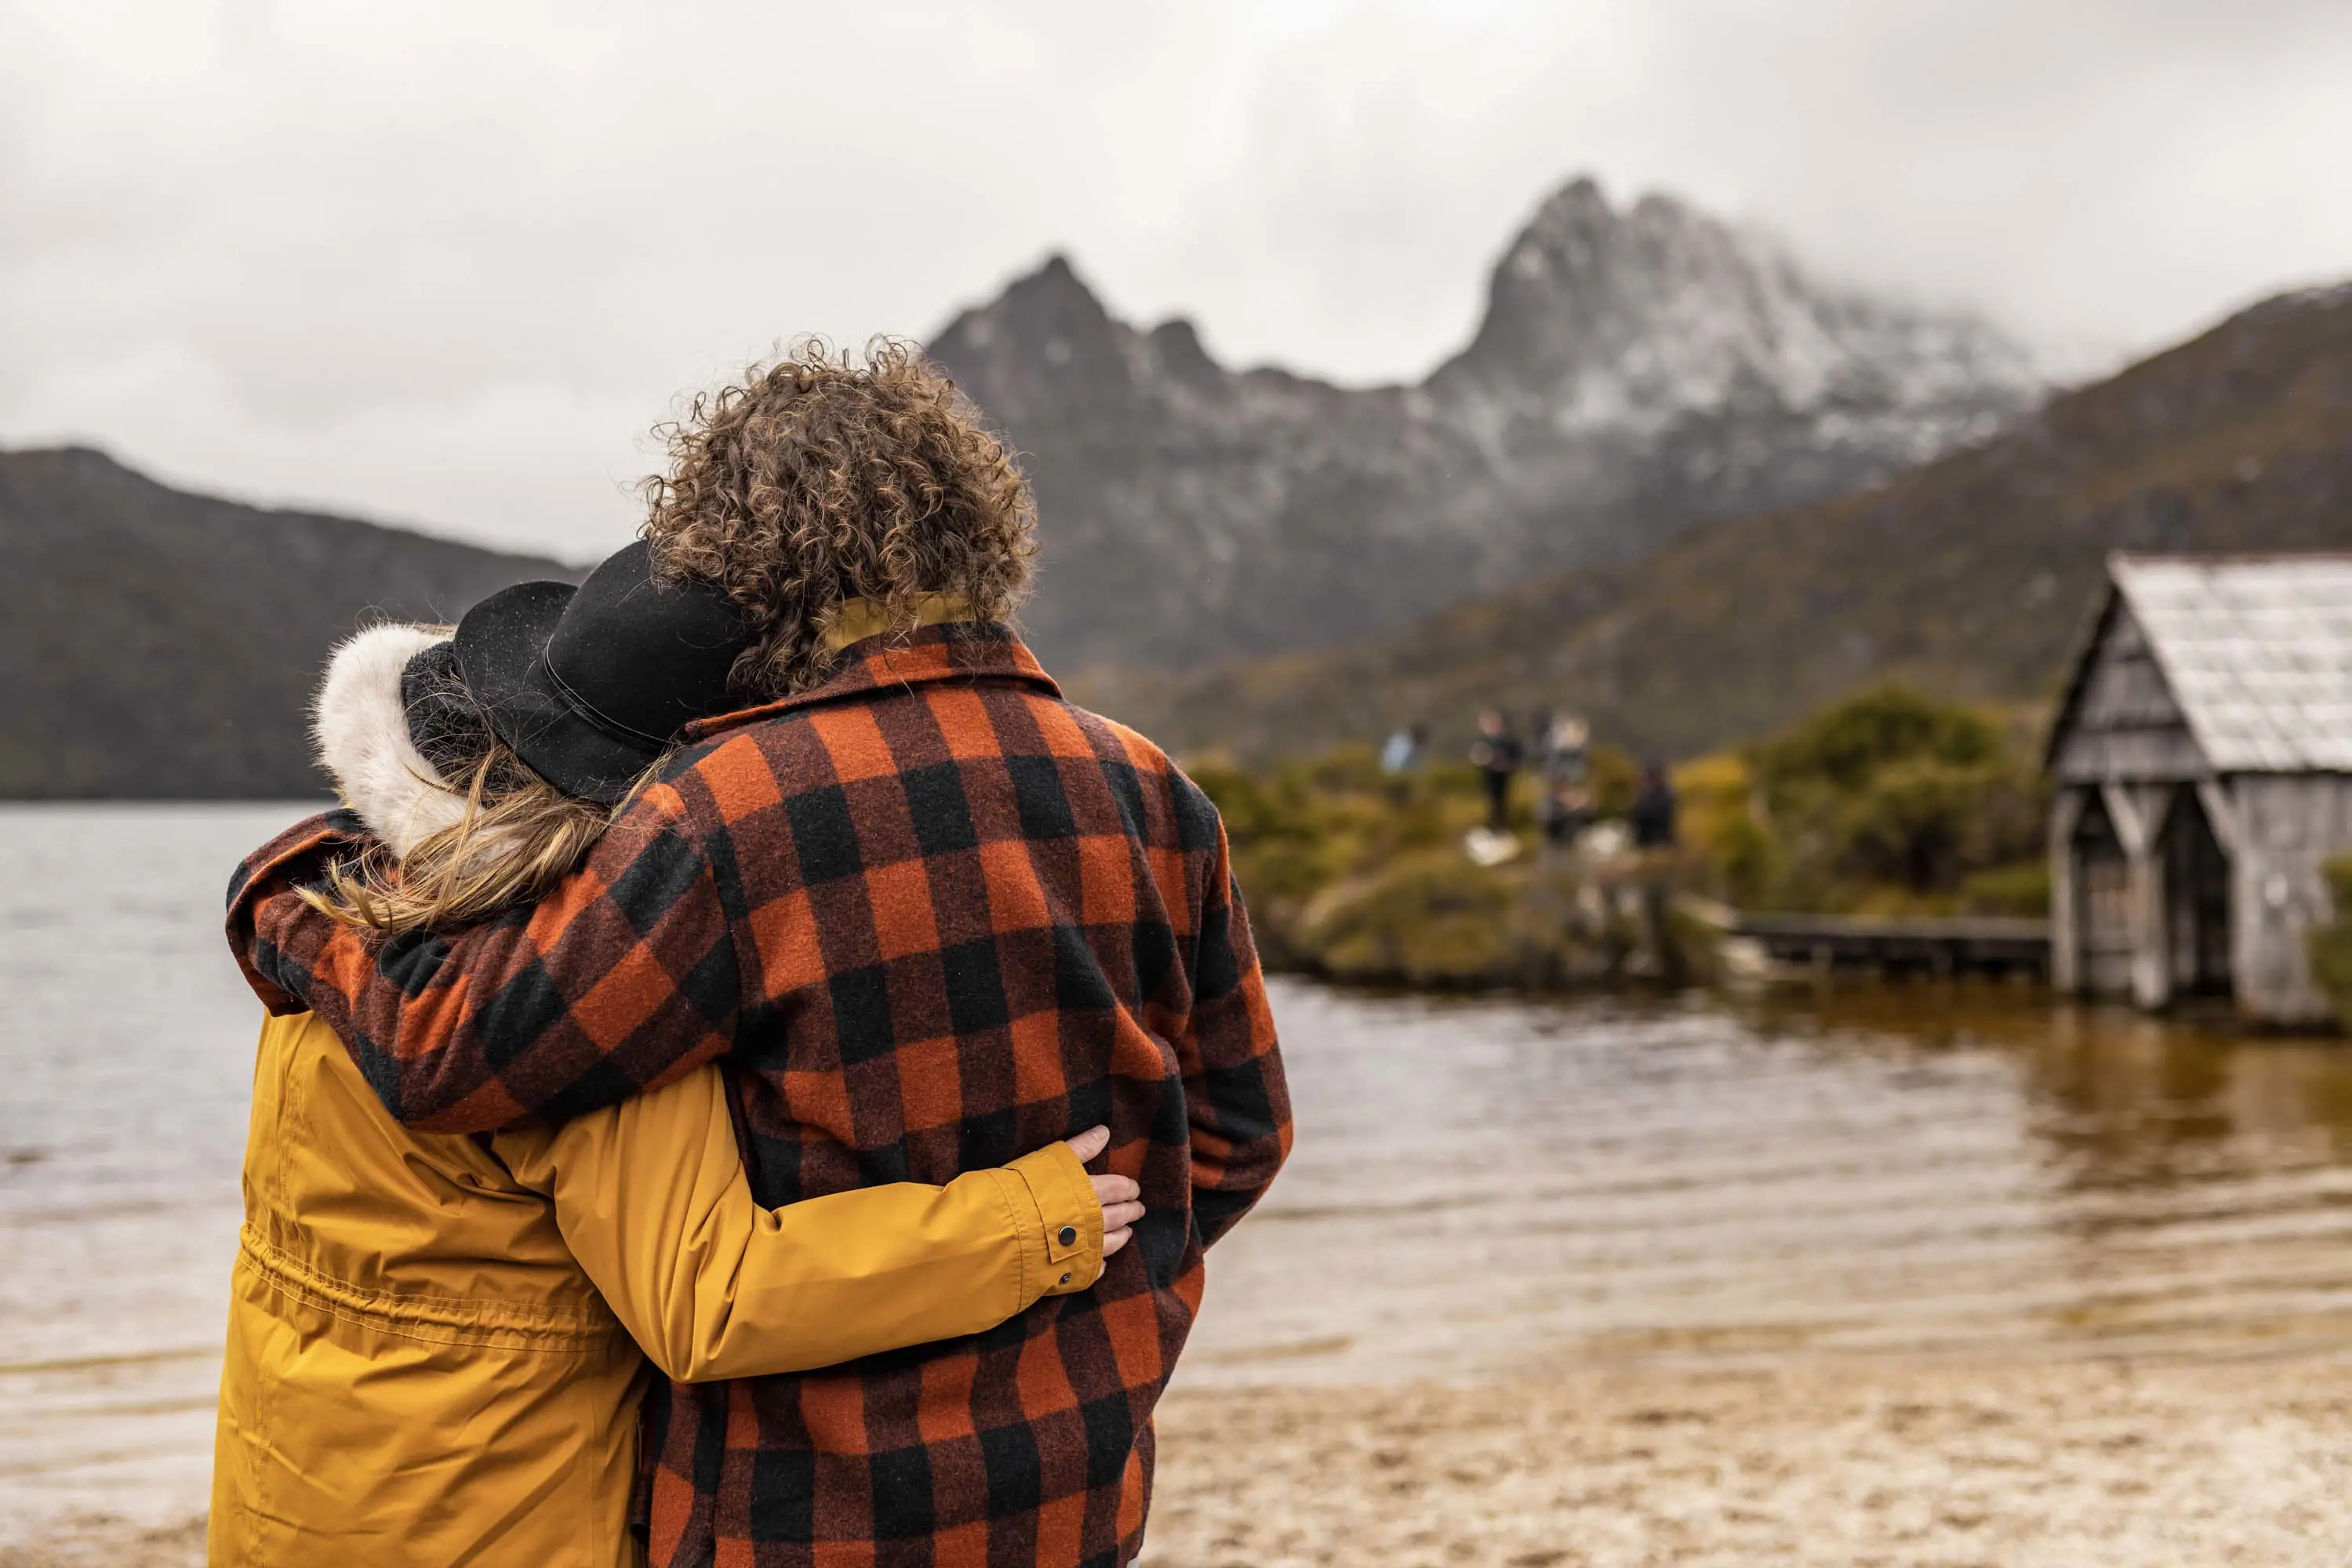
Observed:
[[[496,1147],[555,1201],[572,1255],[677,1382],[981,1333],[1103,1272],[1103,1208],[1058,1143],[946,1187],[760,1208],[717,1067],[560,1128],[513,1128]]]

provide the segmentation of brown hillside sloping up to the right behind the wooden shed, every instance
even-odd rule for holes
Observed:
[[[1277,755],[1571,705],[1691,755],[1882,679],[2056,691],[2110,550],[2352,545],[2352,284],[2272,299],[2006,435],[1828,503],[1717,522],[1397,635],[1077,696],[1178,750]]]

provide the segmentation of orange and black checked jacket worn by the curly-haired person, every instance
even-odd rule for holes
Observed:
[[[390,940],[329,922],[292,889],[355,835],[329,813],[254,853],[228,936],[409,1126],[569,1117],[727,1058],[769,1206],[1096,1121],[1143,1185],[1094,1291],[823,1373],[656,1387],[654,1563],[1136,1556],[1202,1248],[1291,1140],[1223,825],[1157,748],[1063,703],[1004,628],[936,625],[699,726],[536,907]]]

